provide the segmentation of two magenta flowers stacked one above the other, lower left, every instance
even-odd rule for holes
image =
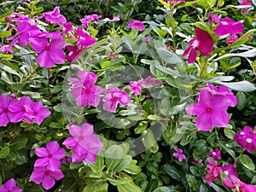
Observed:
[[[34,164],[34,171],[30,179],[32,182],[43,184],[44,189],[50,189],[55,185],[55,180],[64,177],[61,172],[61,159],[65,157],[65,149],[60,148],[59,143],[49,142],[46,148],[36,148],[35,154],[39,157]]]

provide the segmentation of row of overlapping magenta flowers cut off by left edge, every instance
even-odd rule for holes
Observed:
[[[0,101],[0,126],[8,125],[9,122],[18,123],[21,120],[40,125],[50,114],[42,102],[32,102],[29,96],[17,99],[15,94],[10,98],[3,94]]]

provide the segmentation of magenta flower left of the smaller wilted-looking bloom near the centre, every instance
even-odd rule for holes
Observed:
[[[79,79],[67,79],[67,81],[75,83],[71,88],[72,95],[76,98],[76,104],[79,107],[87,105],[97,107],[101,101],[100,94],[102,88],[94,85],[97,76],[92,72],[78,72]]]

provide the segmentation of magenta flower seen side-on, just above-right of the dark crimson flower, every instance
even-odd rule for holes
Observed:
[[[229,17],[219,19],[218,15],[209,14],[209,20],[210,22],[213,20],[218,24],[218,27],[214,30],[214,32],[219,36],[241,33],[243,29],[241,22],[231,20]]]

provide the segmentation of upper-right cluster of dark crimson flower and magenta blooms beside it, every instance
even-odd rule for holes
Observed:
[[[218,36],[229,35],[227,44],[232,44],[237,40],[236,34],[241,33],[243,25],[241,21],[236,22],[228,17],[220,19],[218,15],[209,14],[209,23],[212,25],[212,21],[218,24],[218,27],[213,31]],[[232,35],[232,36],[231,36]],[[211,35],[200,28],[195,28],[195,38],[189,41],[189,47],[184,51],[183,56],[188,55],[188,62],[192,63],[197,57],[196,49],[198,49],[203,56],[210,55],[213,48],[213,39]]]

